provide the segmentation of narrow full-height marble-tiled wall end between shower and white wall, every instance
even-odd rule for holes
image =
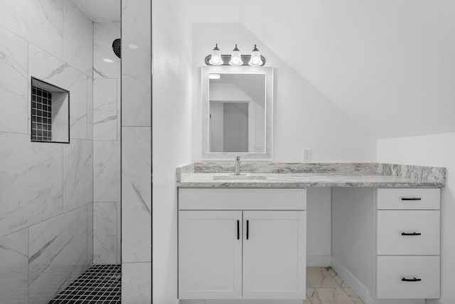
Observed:
[[[122,301],[151,303],[151,2],[122,1]]]

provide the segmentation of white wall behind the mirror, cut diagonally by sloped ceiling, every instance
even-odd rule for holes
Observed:
[[[313,150],[314,162],[375,160],[375,138],[239,23],[193,24],[194,160],[201,154],[200,66],[215,43],[222,53],[230,53],[235,43],[249,53],[256,43],[275,69],[274,161],[301,162],[304,147]]]

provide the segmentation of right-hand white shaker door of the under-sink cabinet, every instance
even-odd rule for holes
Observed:
[[[306,211],[243,211],[243,298],[304,299]]]

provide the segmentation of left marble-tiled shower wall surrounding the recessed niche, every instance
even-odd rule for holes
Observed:
[[[72,0],[0,1],[0,303],[92,261],[92,26]],[[31,76],[70,90],[69,145],[31,142]]]

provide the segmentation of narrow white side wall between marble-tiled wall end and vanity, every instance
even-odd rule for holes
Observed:
[[[176,167],[191,162],[191,27],[177,0],[154,0],[153,303],[177,303]]]

